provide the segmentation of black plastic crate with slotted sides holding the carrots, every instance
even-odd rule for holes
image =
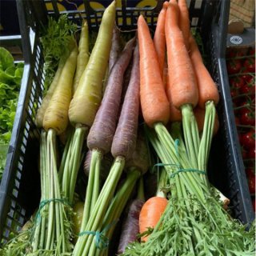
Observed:
[[[128,1],[127,1],[128,2]],[[116,23],[121,30],[137,27],[139,14],[146,17],[154,30],[164,1],[154,7],[132,7],[125,0],[118,1]],[[190,23],[202,38],[207,53],[207,67],[218,85],[220,128],[212,143],[209,161],[210,182],[230,198],[230,211],[243,223],[254,219],[246,174],[234,125],[231,98],[226,74],[226,29],[230,1],[190,0]],[[44,70],[42,45],[38,32],[48,17],[67,14],[81,26],[82,18],[90,30],[98,30],[103,9],[94,10],[90,1],[83,1],[79,10],[58,10],[57,0],[17,0],[18,18],[22,34],[25,68],[14,129],[0,186],[0,241],[5,243],[18,232],[37,209],[40,200],[38,171],[40,131],[35,126],[35,115],[42,102]],[[47,8],[46,8],[47,6]],[[80,6],[81,7],[81,6]]]

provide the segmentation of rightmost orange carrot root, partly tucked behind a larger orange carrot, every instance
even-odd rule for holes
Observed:
[[[213,101],[214,105],[217,105],[219,101],[217,86],[203,64],[202,56],[192,35],[190,36],[190,58],[198,82],[198,105],[201,108],[206,108],[208,101]]]

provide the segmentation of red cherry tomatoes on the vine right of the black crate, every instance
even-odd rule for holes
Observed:
[[[255,211],[255,49],[230,48],[226,55],[242,158]]]

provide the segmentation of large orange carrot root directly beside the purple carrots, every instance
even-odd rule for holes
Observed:
[[[140,98],[143,118],[148,126],[169,121],[170,104],[160,74],[158,55],[150,30],[142,15],[138,18],[138,45],[140,54]]]

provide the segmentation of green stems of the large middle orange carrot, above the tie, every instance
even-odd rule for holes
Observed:
[[[182,106],[182,125],[191,167],[198,169],[199,132],[192,106],[189,104]]]

